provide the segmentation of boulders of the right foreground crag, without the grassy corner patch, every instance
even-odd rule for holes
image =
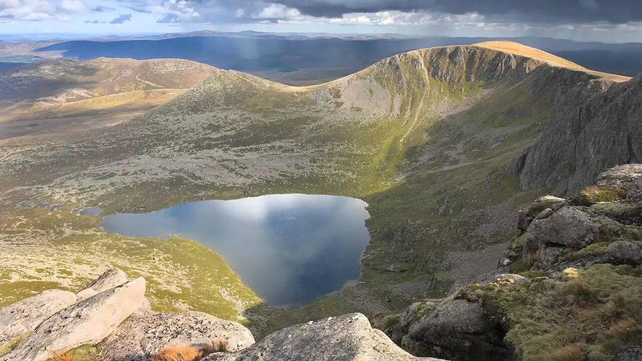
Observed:
[[[464,286],[428,312],[419,312],[422,303],[412,304],[386,333],[413,355],[512,360],[523,349],[516,350],[519,340],[507,333],[519,321],[507,315],[519,313],[514,307],[526,302],[527,292],[539,297],[555,287],[572,289],[574,284],[564,282],[577,280],[594,265],[605,270],[642,265],[642,227],[630,222],[642,215],[641,184],[642,164],[627,164],[603,172],[578,197],[538,198],[519,211],[517,228],[522,234],[500,262],[500,269],[525,272],[524,276],[500,274],[490,283]],[[623,214],[628,222],[616,218]],[[577,286],[590,292],[599,284]],[[562,292],[560,303],[568,302],[564,297]],[[546,307],[541,312],[554,311]]]

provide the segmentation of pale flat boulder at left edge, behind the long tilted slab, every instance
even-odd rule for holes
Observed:
[[[46,290],[0,310],[0,345],[76,303],[76,295],[63,290]]]

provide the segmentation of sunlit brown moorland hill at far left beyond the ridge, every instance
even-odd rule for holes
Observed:
[[[177,59],[42,60],[0,76],[0,121],[148,110],[215,70]]]

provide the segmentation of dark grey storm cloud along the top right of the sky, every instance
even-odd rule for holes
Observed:
[[[489,19],[532,22],[594,22],[621,24],[642,20],[642,0],[273,0],[315,17],[385,10],[464,14]],[[232,4],[230,2],[230,4]]]

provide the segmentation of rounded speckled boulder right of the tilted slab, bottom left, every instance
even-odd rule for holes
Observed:
[[[213,340],[227,351],[252,346],[250,330],[237,322],[223,321],[203,312],[135,312],[101,344],[103,361],[147,361],[165,346],[206,349]]]

